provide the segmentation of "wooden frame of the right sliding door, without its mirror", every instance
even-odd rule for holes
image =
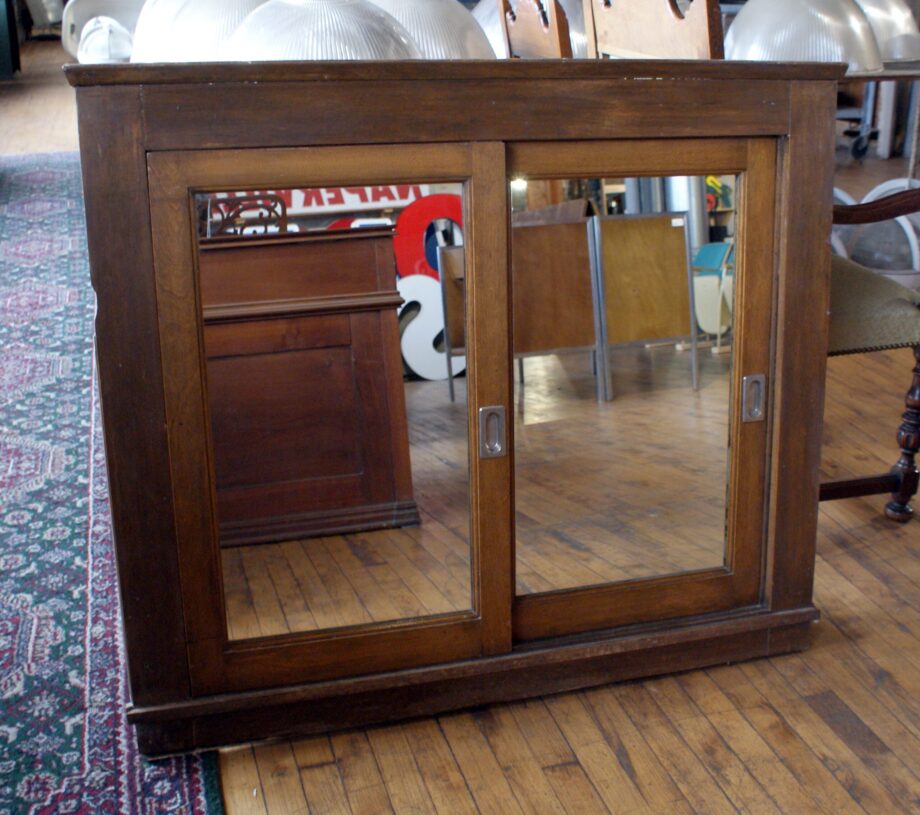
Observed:
[[[763,603],[770,420],[741,421],[741,379],[767,376],[772,390],[775,343],[774,239],[777,139],[646,139],[508,146],[509,177],[624,178],[740,175],[736,249],[736,331],[729,398],[725,565],[599,586],[515,595],[516,642],[565,636]],[[740,285],[739,285],[740,283]],[[512,295],[513,296],[513,295]],[[676,434],[675,455],[680,455]],[[660,485],[662,490],[680,488]]]

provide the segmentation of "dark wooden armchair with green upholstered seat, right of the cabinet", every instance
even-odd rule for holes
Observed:
[[[860,224],[920,210],[920,190],[890,195],[870,204],[835,206],[834,223]],[[891,493],[885,514],[895,521],[913,517],[911,499],[920,471],[920,292],[902,286],[850,260],[834,257],[831,266],[830,356],[890,348],[913,348],[916,364],[907,392],[897,440],[901,457],[889,473],[830,481],[821,485],[821,500]]]

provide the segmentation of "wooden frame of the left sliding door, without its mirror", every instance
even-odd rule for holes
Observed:
[[[480,459],[481,406],[504,404],[507,349],[504,148],[500,144],[383,145],[148,155],[150,223],[166,428],[176,507],[180,586],[194,694],[450,662],[511,648],[508,607],[510,505],[501,496],[508,458]],[[229,640],[216,517],[216,479],[207,399],[196,251],[196,191],[358,184],[464,185],[467,256],[468,438],[471,606],[469,612],[394,620],[276,637]],[[215,602],[219,598],[219,602]]]

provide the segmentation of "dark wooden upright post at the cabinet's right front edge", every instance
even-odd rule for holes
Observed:
[[[768,597],[776,610],[812,598],[818,523],[836,86],[792,84],[779,176],[774,448]]]

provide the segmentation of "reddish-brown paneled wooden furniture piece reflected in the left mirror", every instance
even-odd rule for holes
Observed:
[[[221,545],[417,523],[392,232],[203,241],[199,273]]]

